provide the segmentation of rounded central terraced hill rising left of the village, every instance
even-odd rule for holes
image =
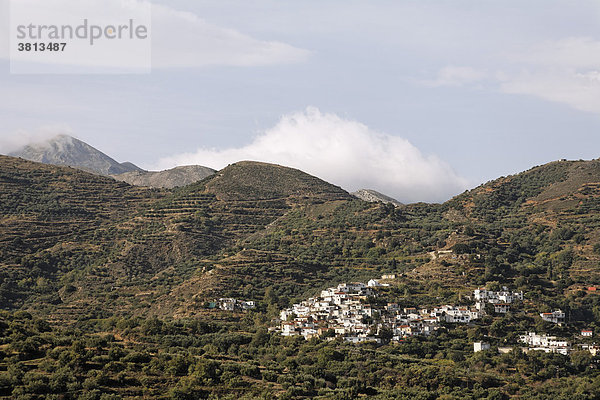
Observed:
[[[288,270],[293,270],[288,279],[267,274],[263,264],[270,269],[280,256],[269,254],[261,262],[254,255],[243,255],[243,240],[260,235],[294,210],[349,199],[342,189],[298,170],[254,162],[233,164],[173,191],[141,216],[119,225],[127,250],[115,258],[115,265],[121,270],[137,269],[104,286],[117,287],[119,297],[138,296],[143,300],[133,302],[137,309],[159,315],[199,312],[206,298],[248,295],[243,287],[257,282],[251,291],[254,298],[262,298],[273,283],[292,286],[299,294],[297,284],[312,274],[312,263],[285,256]]]

